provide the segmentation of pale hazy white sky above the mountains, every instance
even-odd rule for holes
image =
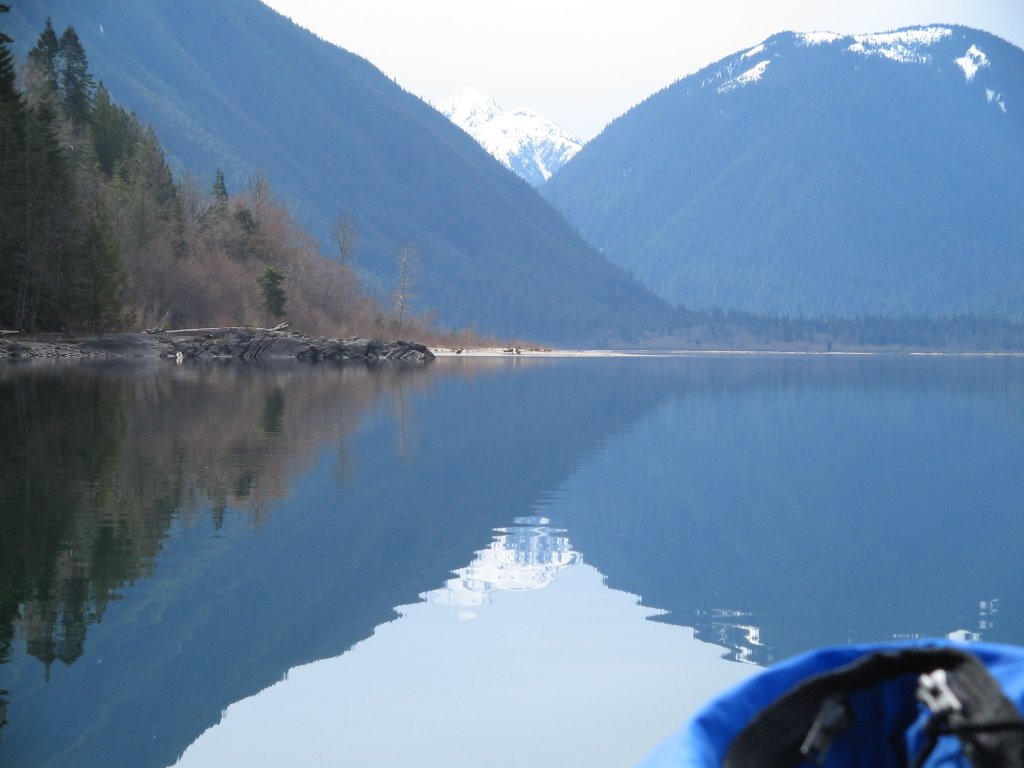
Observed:
[[[264,0],[436,103],[463,86],[584,139],[776,32],[963,24],[1024,47],[1024,0]]]

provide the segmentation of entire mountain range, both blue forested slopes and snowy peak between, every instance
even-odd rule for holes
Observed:
[[[47,16],[177,173],[261,170],[326,243],[347,214],[385,300],[412,242],[413,309],[445,328],[607,345],[707,325],[680,303],[1024,321],[1024,51],[984,32],[773,36],[615,120],[546,201],[467,131],[535,180],[571,137],[469,92],[441,105],[462,130],[258,0],[15,0],[15,53]]]

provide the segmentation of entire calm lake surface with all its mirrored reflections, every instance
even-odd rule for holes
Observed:
[[[1024,358],[0,368],[3,766],[627,766],[1024,643]]]

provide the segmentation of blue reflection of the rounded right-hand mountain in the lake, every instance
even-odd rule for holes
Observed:
[[[835,362],[697,365],[542,512],[736,660],[1024,641],[1024,359]]]

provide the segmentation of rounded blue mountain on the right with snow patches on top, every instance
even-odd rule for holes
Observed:
[[[963,27],[775,35],[543,194],[690,308],[1024,319],[1024,51]]]

